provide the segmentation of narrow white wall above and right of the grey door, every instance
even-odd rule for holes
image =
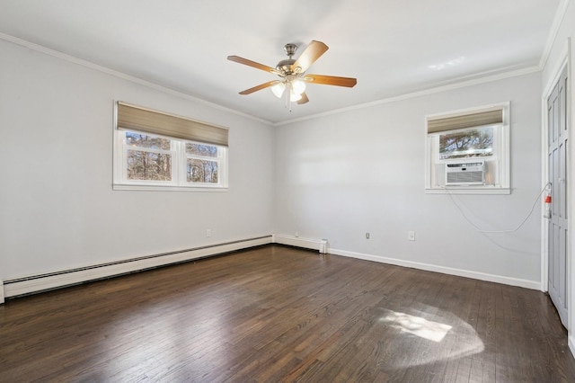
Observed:
[[[559,26],[557,31],[557,35],[555,40],[553,41],[553,48],[551,49],[549,58],[546,62],[543,71],[543,86],[544,89],[548,88],[553,81],[555,81],[554,77],[558,74],[558,71],[562,67],[562,63],[565,58],[568,58],[569,66],[570,66],[570,79],[569,79],[569,87],[570,87],[570,94],[571,94],[571,102],[570,102],[570,111],[571,111],[571,119],[570,119],[570,137],[569,140],[571,142],[571,146],[569,147],[570,155],[571,155],[571,174],[569,175],[568,179],[568,188],[571,189],[571,222],[573,214],[575,214],[575,207],[573,206],[573,201],[575,201],[575,191],[573,189],[573,183],[575,181],[575,156],[573,156],[573,145],[572,145],[572,137],[573,137],[573,129],[575,129],[575,123],[573,120],[573,115],[575,113],[575,79],[573,78],[573,63],[575,63],[575,52],[573,51],[573,40],[575,40],[575,4],[571,0],[564,0],[564,4],[567,4],[562,22]],[[571,45],[571,48],[568,48]],[[571,224],[572,225],[572,224]],[[572,227],[572,226],[571,226]],[[569,308],[569,320],[568,320],[568,328],[569,328],[569,346],[571,348],[571,353],[575,354],[575,334],[574,334],[574,322],[575,322],[575,289],[573,288],[573,276],[575,276],[575,263],[572,261],[572,256],[575,254],[575,241],[572,238],[573,230],[570,228],[570,240],[571,240],[571,252],[568,257],[568,286],[569,292],[567,294],[568,303],[567,306]]]

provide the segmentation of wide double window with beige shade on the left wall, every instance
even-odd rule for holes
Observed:
[[[116,128],[114,189],[226,190],[227,129],[122,102]]]

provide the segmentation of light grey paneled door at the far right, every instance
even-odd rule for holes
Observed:
[[[567,326],[567,67],[547,99],[549,183],[549,296],[557,307],[562,324]]]

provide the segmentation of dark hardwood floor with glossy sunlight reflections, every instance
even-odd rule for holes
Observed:
[[[543,293],[264,246],[0,306],[0,381],[574,382]]]

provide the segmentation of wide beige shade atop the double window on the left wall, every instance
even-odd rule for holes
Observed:
[[[117,128],[227,147],[228,129],[118,102]]]

